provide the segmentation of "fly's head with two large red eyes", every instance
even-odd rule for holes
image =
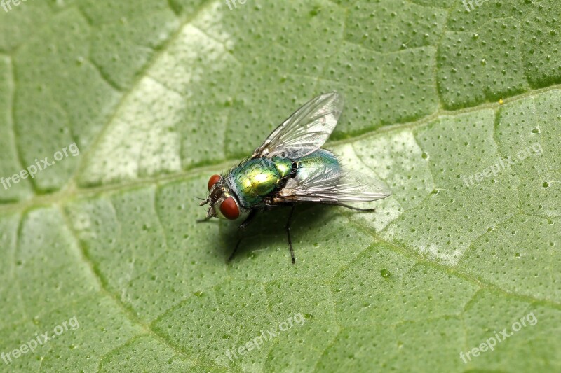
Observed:
[[[231,192],[224,177],[220,175],[210,176],[208,180],[208,197],[201,202],[201,206],[205,204],[210,204],[206,214],[207,218],[217,217],[236,220],[245,212],[234,193]]]

